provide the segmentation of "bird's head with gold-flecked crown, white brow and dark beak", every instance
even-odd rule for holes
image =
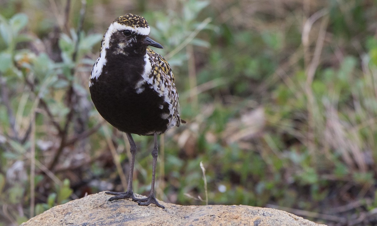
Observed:
[[[143,53],[147,46],[162,49],[161,44],[149,38],[150,27],[144,17],[126,14],[116,18],[104,34],[102,49],[118,54]]]

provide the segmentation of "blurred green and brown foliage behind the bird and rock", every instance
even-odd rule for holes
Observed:
[[[205,205],[202,162],[209,204],[377,224],[376,6],[0,0],[0,225],[126,188],[127,139],[98,115],[88,78],[103,32],[129,12],[164,46],[188,121],[161,136],[159,199]],[[134,139],[134,191],[148,194],[153,139]]]

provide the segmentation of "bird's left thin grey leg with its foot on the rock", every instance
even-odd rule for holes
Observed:
[[[133,195],[132,191],[132,177],[133,177],[133,165],[135,164],[135,155],[136,155],[136,144],[133,141],[132,136],[130,133],[126,133],[128,142],[130,143],[130,152],[131,152],[131,164],[130,164],[130,176],[128,177],[128,186],[126,192],[113,192],[107,191],[105,194],[115,195],[111,197],[108,201],[116,200],[116,199],[128,199],[131,198],[135,200],[135,195]]]

